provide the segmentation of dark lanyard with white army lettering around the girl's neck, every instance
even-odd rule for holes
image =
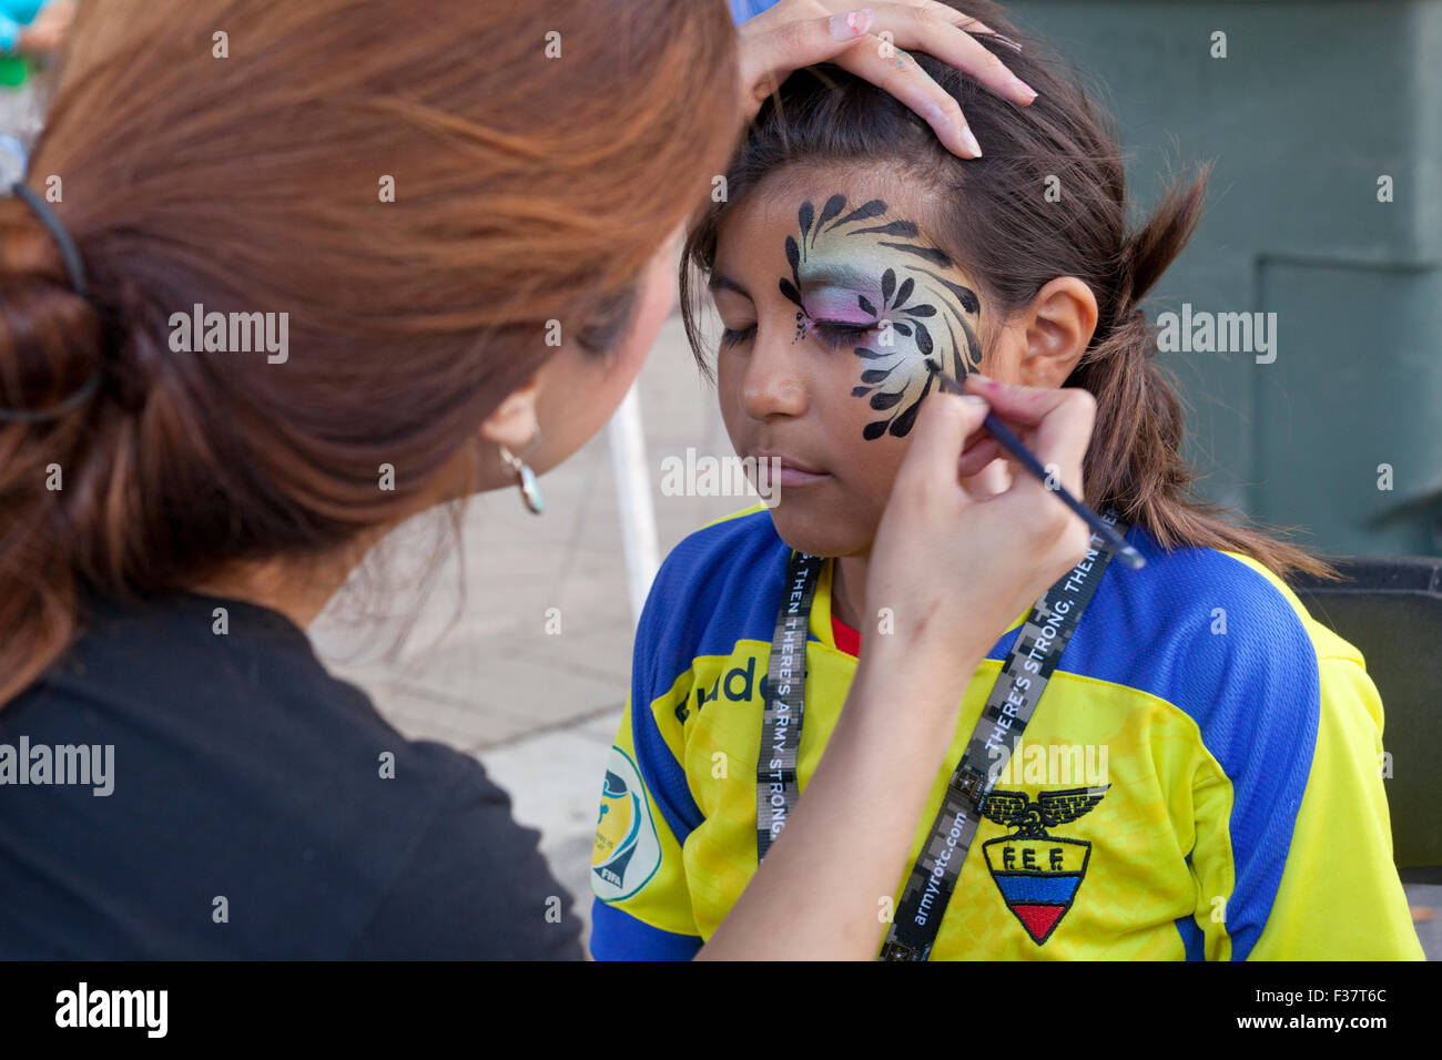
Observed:
[[[1105,512],[1102,519],[1115,525],[1120,536],[1126,535],[1126,525],[1118,521],[1116,512]],[[1018,630],[966,751],[952,773],[921,855],[901,890],[878,959],[926,960],[930,956],[942,916],[962,874],[962,862],[981,823],[981,805],[1005,769],[1014,743],[1031,721],[1047,681],[1110,561],[1112,551],[1093,534],[1082,562],[1043,593]],[[756,759],[757,861],[766,857],[786,826],[799,798],[796,754],[806,705],[806,630],[823,564],[822,557],[792,554],[786,591],[776,616],[761,747]]]

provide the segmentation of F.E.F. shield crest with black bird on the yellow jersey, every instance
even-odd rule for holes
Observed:
[[[992,792],[982,802],[982,816],[1017,829],[1014,835],[988,839],[982,851],[1002,901],[1038,946],[1071,909],[1092,858],[1092,844],[1086,839],[1051,835],[1047,829],[1090,813],[1107,787],[1041,792],[1035,802],[1025,792]]]

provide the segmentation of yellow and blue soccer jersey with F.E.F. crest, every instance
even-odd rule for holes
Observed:
[[[986,800],[932,959],[1422,959],[1361,655],[1249,558],[1126,538],[1146,567],[1103,575]],[[751,509],[692,534],[656,577],[601,790],[597,959],[691,958],[756,871],[789,557]],[[911,862],[1021,617],[966,688]],[[802,798],[857,666],[832,636],[831,562],[806,666]]]

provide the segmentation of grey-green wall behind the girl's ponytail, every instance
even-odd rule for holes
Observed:
[[[1442,1],[1009,9],[1102,87],[1139,203],[1214,162],[1148,316],[1276,313],[1270,363],[1162,356],[1203,492],[1328,552],[1442,555]]]

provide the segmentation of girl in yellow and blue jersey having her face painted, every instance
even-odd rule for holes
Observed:
[[[1203,180],[1129,235],[1118,149],[1083,92],[1034,42],[1005,58],[1040,94],[1025,110],[911,56],[962,105],[978,160],[839,69],[793,75],[689,237],[725,327],[728,434],[779,464],[779,503],[692,534],[656,578],[601,796],[591,950],[689,958],[718,930],[806,789],[861,645],[907,604],[862,590],[919,410],[937,374],[985,372],[1094,395],[1086,496],[1146,565],[1109,564],[1093,538],[975,671],[907,870],[878,896],[880,955],[1420,958],[1377,691],[1282,580],[1325,567],[1187,489],[1138,301]],[[996,454],[982,443],[963,464]],[[1008,474],[985,472],[992,489]]]

